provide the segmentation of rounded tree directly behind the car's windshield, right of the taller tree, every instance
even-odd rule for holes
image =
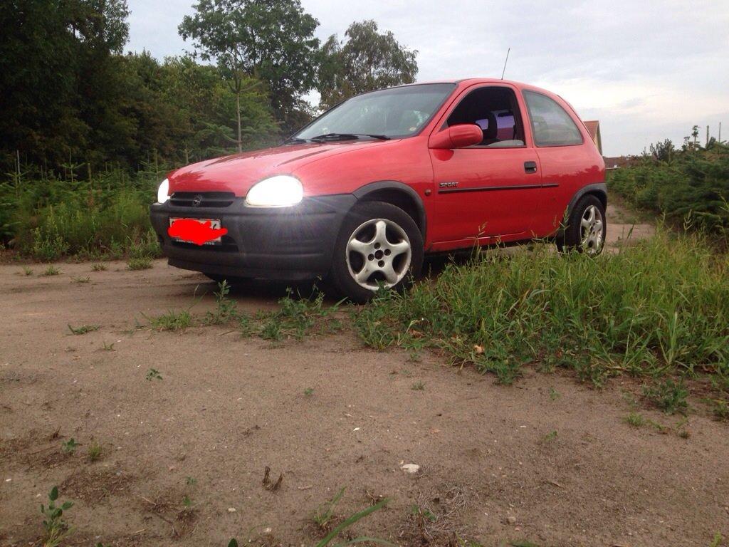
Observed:
[[[321,48],[317,89],[326,109],[357,93],[410,84],[418,74],[417,50],[401,46],[391,31],[381,34],[373,20],[352,23],[346,42],[336,34]]]

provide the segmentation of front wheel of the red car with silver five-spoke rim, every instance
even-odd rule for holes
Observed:
[[[408,213],[391,203],[356,204],[342,222],[330,280],[343,296],[366,302],[379,285],[402,290],[423,266],[423,236]]]

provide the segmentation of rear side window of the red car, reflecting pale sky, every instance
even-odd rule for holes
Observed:
[[[526,108],[529,109],[534,144],[538,147],[566,147],[582,144],[582,134],[572,118],[553,99],[524,91]]]

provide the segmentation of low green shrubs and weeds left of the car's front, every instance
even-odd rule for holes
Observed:
[[[0,184],[0,238],[38,260],[155,257],[149,203],[161,173],[123,171],[87,181],[52,176]]]

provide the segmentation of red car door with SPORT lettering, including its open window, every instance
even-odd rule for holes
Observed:
[[[430,150],[436,193],[433,250],[530,237],[542,175],[526,140],[522,112],[513,86],[488,84],[464,90],[445,113],[436,132],[476,123],[483,141]]]

